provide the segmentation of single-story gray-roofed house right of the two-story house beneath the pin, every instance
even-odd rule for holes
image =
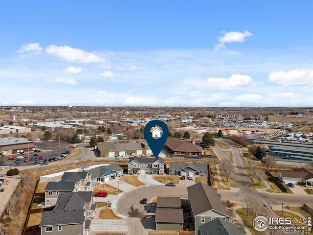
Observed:
[[[179,176],[208,176],[208,165],[205,163],[170,163],[170,175]]]

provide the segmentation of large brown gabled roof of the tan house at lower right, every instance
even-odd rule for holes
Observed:
[[[214,210],[231,217],[231,213],[227,211],[227,207],[222,202],[221,195],[217,193],[216,188],[198,183],[187,187],[187,191],[194,216]]]

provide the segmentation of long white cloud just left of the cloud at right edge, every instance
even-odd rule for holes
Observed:
[[[200,85],[200,84],[198,84]],[[230,78],[210,77],[203,84],[206,88],[218,88],[220,90],[251,88],[255,86],[252,78],[247,75],[233,74]]]

